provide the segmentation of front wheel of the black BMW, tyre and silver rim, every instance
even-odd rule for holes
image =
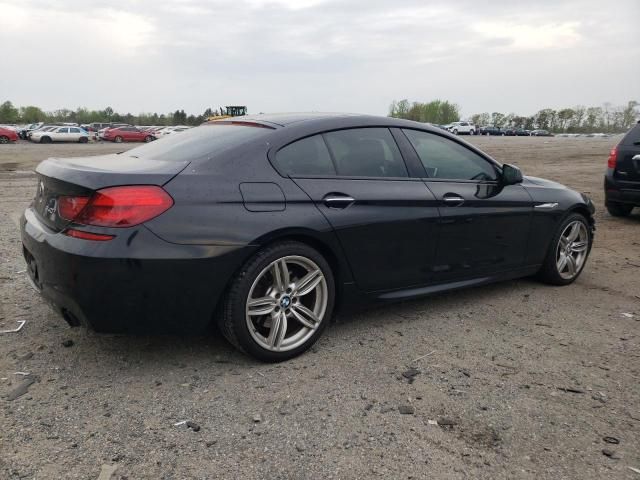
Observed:
[[[538,273],[539,278],[552,285],[572,283],[587,262],[592,241],[587,219],[579,213],[570,214],[562,221],[553,237]]]

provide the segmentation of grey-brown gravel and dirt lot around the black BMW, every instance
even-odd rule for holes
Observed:
[[[279,365],[218,338],[68,328],[25,278],[16,222],[35,193],[28,171],[123,147],[0,146],[0,328],[27,322],[0,335],[0,395],[24,381],[14,372],[35,380],[0,399],[0,478],[113,468],[129,479],[640,479],[629,468],[640,469],[640,212],[614,219],[602,206],[617,139],[471,141],[594,198],[596,241],[579,280],[342,316]]]

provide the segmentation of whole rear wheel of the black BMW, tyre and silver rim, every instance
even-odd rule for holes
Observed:
[[[298,242],[274,244],[250,259],[232,281],[220,330],[255,358],[287,360],[320,337],[334,299],[333,273],[320,253]]]

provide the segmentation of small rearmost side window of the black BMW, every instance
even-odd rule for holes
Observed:
[[[320,135],[303,138],[281,148],[276,154],[275,164],[281,174],[292,177],[336,175],[329,150]]]

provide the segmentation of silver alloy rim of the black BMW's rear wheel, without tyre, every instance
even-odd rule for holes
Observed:
[[[245,306],[253,339],[273,352],[293,350],[320,326],[329,300],[322,270],[298,255],[271,262],[256,277]]]

